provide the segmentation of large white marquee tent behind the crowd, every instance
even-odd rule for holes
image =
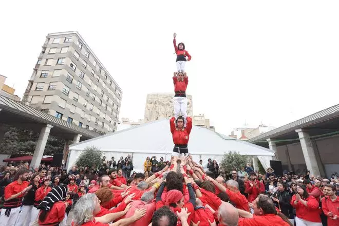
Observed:
[[[169,120],[162,119],[70,145],[67,170],[76,163],[87,146],[98,147],[106,160],[114,156],[118,161],[121,156],[125,158],[129,154],[133,157],[134,171],[141,172],[147,156],[170,160],[174,144]],[[193,126],[189,141],[189,152],[193,155],[193,160],[199,162],[202,159],[203,164],[207,164],[211,158],[220,162],[223,154],[230,151],[258,157],[264,168],[270,165],[269,161],[274,157],[274,152],[270,149]]]

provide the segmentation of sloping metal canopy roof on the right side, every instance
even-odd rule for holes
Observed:
[[[279,146],[295,143],[299,140],[295,130],[299,128],[306,129],[310,137],[332,136],[339,131],[339,104],[253,137],[248,142],[266,147],[268,146],[267,139],[280,140],[277,142]]]

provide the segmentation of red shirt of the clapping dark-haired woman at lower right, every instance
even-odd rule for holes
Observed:
[[[296,216],[298,218],[311,222],[322,222],[319,215],[319,202],[313,196],[304,199],[307,201],[307,206],[300,201],[295,205],[295,199],[295,195],[293,195],[291,205],[295,208]]]

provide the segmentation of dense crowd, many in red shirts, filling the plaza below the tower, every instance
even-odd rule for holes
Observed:
[[[44,164],[0,166],[1,225],[66,225],[70,211],[75,226],[339,225],[336,175],[276,177],[272,168],[258,174],[248,163],[225,177],[215,160],[202,165],[191,156],[153,156],[142,173],[128,175],[126,162],[130,156],[104,158],[92,174],[77,166],[68,173]]]

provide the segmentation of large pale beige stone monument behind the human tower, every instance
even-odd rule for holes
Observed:
[[[148,93],[144,123],[174,116],[174,93]],[[193,116],[192,95],[187,95],[187,116]]]

